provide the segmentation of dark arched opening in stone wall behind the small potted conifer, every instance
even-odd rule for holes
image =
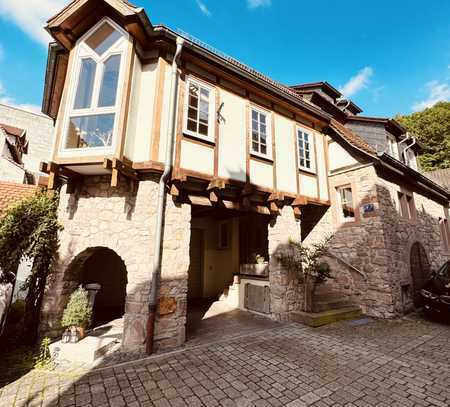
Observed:
[[[86,249],[72,261],[65,280],[72,291],[79,285],[100,285],[93,308],[93,327],[124,315],[127,270],[124,261],[113,250],[106,247]]]

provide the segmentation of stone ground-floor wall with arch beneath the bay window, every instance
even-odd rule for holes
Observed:
[[[124,350],[143,350],[154,248],[158,180],[141,181],[132,191],[127,182],[111,189],[109,177],[86,177],[74,194],[61,191],[59,258],[45,294],[41,334],[61,333],[68,297],[80,283],[79,271],[95,248],[113,250],[124,261],[128,284],[124,316]],[[167,200],[161,304],[156,347],[173,347],[185,339],[190,206]],[[78,276],[77,276],[78,273]],[[170,306],[166,306],[170,303]]]

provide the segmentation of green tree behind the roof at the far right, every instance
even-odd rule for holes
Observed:
[[[397,115],[395,120],[423,144],[424,151],[419,157],[423,170],[450,168],[450,102],[439,102],[406,116]]]

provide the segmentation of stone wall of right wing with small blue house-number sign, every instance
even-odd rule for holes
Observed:
[[[442,204],[414,191],[417,219],[404,219],[397,203],[400,183],[388,181],[372,165],[330,176],[331,207],[304,239],[308,244],[334,235],[330,251],[339,260],[327,259],[334,274],[327,285],[375,317],[390,318],[411,308],[410,253],[415,242],[425,248],[431,268],[448,258],[439,230]],[[355,222],[338,220],[335,188],[340,185],[352,185]]]

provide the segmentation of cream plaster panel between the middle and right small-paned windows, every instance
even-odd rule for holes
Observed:
[[[275,120],[277,189],[297,193],[294,124],[278,114],[272,117]]]

